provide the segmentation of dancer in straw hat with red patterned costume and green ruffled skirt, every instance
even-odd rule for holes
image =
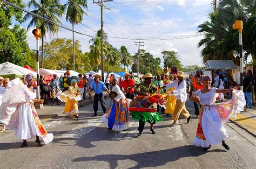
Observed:
[[[153,129],[153,124],[159,121],[163,121],[163,117],[161,117],[159,113],[156,111],[157,104],[150,102],[149,98],[142,97],[142,96],[149,96],[150,94],[153,94],[154,91],[157,90],[157,87],[154,86],[152,83],[153,76],[152,74],[147,73],[143,76],[143,79],[145,81],[140,83],[134,90],[134,93],[139,96],[132,100],[129,108],[132,117],[134,119],[139,120],[138,136],[142,135],[145,122],[150,123],[150,131],[152,132],[152,134],[155,134],[156,132]],[[137,109],[142,109],[145,111],[136,111]]]

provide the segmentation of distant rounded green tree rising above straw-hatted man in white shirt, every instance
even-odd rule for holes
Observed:
[[[165,68],[171,68],[172,66],[176,66],[178,70],[182,70],[183,65],[181,65],[181,61],[179,60],[178,52],[175,51],[163,51],[161,52],[163,54],[164,59],[164,67]]]

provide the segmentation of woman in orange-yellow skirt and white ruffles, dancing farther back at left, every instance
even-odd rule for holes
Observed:
[[[77,80],[71,80],[71,86],[68,90],[59,92],[56,96],[59,100],[65,102],[65,108],[63,114],[66,116],[75,116],[78,117],[78,101],[81,100],[81,92],[77,86]]]

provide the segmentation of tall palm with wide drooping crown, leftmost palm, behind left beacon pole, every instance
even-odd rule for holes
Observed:
[[[31,21],[28,25],[27,31],[31,27],[37,27],[37,29],[41,29],[42,34],[42,68],[44,67],[44,38],[46,37],[46,33],[50,34],[50,37],[58,33],[59,26],[57,24],[61,24],[60,20],[58,18],[62,17],[63,13],[63,6],[59,4],[58,0],[41,0],[39,2],[32,0],[28,2],[29,8],[33,6],[33,8],[36,8],[35,10],[31,11],[33,13],[36,13],[39,16],[42,16],[51,22],[46,21],[45,19],[38,18],[36,16],[32,16],[29,13],[27,13],[23,19],[28,20],[30,18]],[[57,24],[55,24],[57,23]]]

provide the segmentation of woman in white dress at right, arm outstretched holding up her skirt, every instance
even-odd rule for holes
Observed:
[[[200,101],[203,105],[203,111],[200,111],[199,114],[198,128],[193,144],[203,147],[203,150],[208,150],[212,144],[216,145],[222,142],[225,149],[230,150],[225,142],[228,135],[224,124],[244,109],[246,103],[244,93],[241,90],[211,88],[211,78],[209,76],[205,76],[203,82],[204,88],[197,90],[194,96],[190,97],[191,101]],[[215,104],[218,95],[228,91],[233,91],[233,98],[224,103]]]

